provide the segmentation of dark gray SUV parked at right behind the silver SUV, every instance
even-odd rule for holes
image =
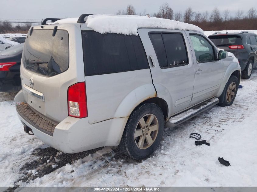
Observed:
[[[209,39],[219,49],[233,53],[239,61],[242,78],[249,79],[252,68],[257,66],[257,35],[242,31],[240,33],[214,33]]]

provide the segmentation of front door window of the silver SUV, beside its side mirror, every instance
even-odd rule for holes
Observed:
[[[196,61],[199,63],[214,61],[214,50],[212,45],[201,35],[190,34],[193,43]]]

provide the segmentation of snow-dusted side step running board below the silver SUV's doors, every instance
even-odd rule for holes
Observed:
[[[206,102],[201,103],[200,105],[197,105],[191,109],[188,109],[187,111],[184,111],[182,113],[179,113],[178,115],[175,115],[173,117],[171,117],[168,122],[165,124],[166,127],[175,127],[189,119],[191,119],[192,117],[198,115],[199,113],[202,113],[203,111],[206,111],[207,109],[210,109],[211,107],[213,107],[214,105],[219,103],[219,99],[218,98],[212,98]]]

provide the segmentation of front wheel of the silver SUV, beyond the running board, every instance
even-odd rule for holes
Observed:
[[[238,86],[239,83],[237,77],[231,75],[227,81],[227,86],[224,88],[225,94],[222,95],[223,98],[221,98],[222,96],[219,97],[220,100],[223,100],[223,103],[219,103],[218,105],[222,107],[232,105],[237,94]]]

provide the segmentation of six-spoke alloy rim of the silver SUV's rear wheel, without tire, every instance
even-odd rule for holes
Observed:
[[[134,140],[138,148],[147,149],[150,147],[158,134],[159,124],[155,115],[146,114],[137,123],[134,133]]]

